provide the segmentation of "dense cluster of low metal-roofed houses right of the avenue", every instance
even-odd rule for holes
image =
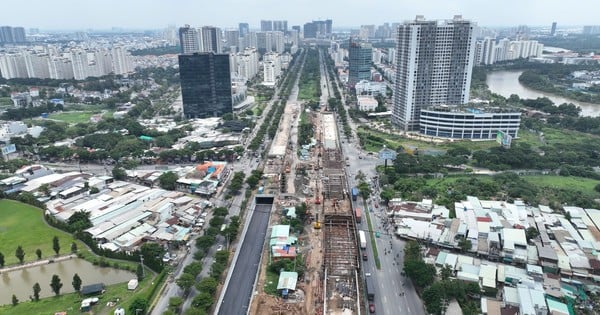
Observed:
[[[569,314],[585,292],[600,292],[600,210],[565,206],[565,217],[547,206],[476,197],[455,203],[456,218],[446,210],[430,200],[393,200],[387,214],[396,235],[430,245],[428,262],[488,293],[483,314]]]

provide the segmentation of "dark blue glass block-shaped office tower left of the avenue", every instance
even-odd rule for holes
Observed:
[[[179,78],[186,118],[218,117],[233,111],[229,54],[179,55]]]

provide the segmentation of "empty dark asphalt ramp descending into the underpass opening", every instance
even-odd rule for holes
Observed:
[[[246,233],[239,246],[240,263],[234,267],[218,314],[245,315],[248,311],[272,207],[273,205],[256,205],[254,208],[248,226],[250,233]]]

